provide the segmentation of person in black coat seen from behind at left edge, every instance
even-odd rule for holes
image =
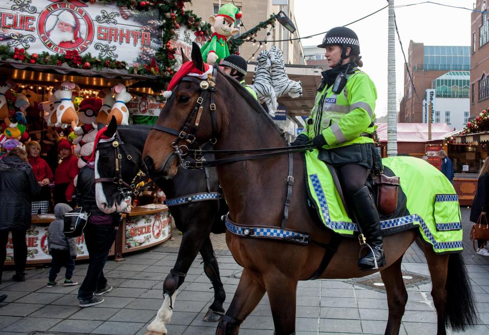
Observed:
[[[7,250],[9,231],[14,246],[14,281],[25,281],[24,269],[27,260],[25,234],[31,226],[32,198],[39,194],[39,186],[27,153],[14,148],[0,160],[0,282]]]

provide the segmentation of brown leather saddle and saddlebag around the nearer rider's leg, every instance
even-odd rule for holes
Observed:
[[[331,176],[333,177],[333,181],[336,189],[338,190],[343,206],[348,212],[350,212],[350,209],[348,208],[343,196],[343,191],[341,189],[336,168],[331,164],[326,165],[331,172]],[[384,173],[380,175],[370,174],[366,181],[366,185],[371,191],[373,191],[379,215],[385,217],[393,215],[397,210],[397,189],[400,185],[399,177],[394,175],[388,176]]]

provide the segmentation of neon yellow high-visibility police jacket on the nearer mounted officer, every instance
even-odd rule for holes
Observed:
[[[373,125],[377,90],[370,77],[354,69],[342,92],[335,94],[332,89],[330,85],[317,93],[303,133],[309,139],[322,134],[328,143],[325,148],[373,143],[368,135],[377,128]]]

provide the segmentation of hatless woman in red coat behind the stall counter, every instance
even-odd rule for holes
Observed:
[[[49,183],[53,180],[49,165],[45,160],[40,158],[41,145],[36,141],[27,143],[27,153],[29,154],[29,163],[36,177],[37,183],[41,187],[41,192],[32,200],[32,214],[46,214],[49,202],[51,201],[51,189]]]

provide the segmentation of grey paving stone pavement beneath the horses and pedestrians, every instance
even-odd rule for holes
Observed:
[[[489,333],[489,258],[476,255],[469,241],[472,226],[469,210],[464,219],[464,258],[475,292],[480,324],[467,334]],[[76,299],[77,286],[46,288],[49,268],[27,271],[23,283],[11,281],[13,271],[4,271],[0,292],[8,298],[0,303],[1,334],[143,334],[161,306],[162,280],[177,257],[181,235],[174,228],[174,240],[149,251],[126,256],[126,260],[107,261],[105,276],[115,289],[95,307],[81,309]],[[236,290],[242,268],[227,250],[224,235],[211,237],[227,293],[225,309]],[[170,335],[214,334],[215,323],[203,321],[213,299],[213,291],[203,272],[199,256],[193,262],[180,289],[174,313],[167,326]],[[73,280],[82,282],[88,264],[76,265]],[[428,275],[421,251],[416,247],[404,256],[404,270]],[[370,289],[345,283],[346,280],[301,282],[297,289],[297,335],[383,334],[388,316],[387,297]],[[408,289],[409,300],[400,334],[435,334],[436,312],[429,294],[431,284]],[[455,332],[449,332],[455,334]],[[271,335],[273,320],[265,295],[253,313],[242,323],[240,334]]]

